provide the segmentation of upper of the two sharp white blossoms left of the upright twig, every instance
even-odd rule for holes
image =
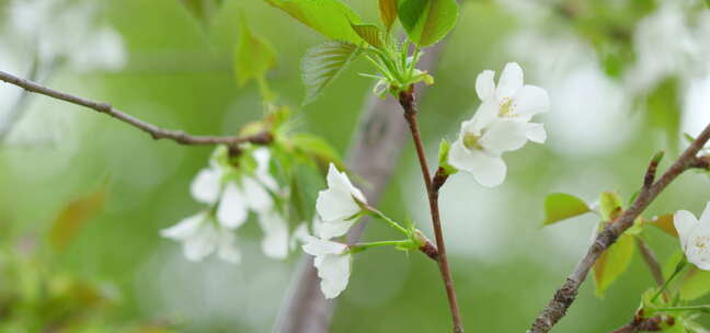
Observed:
[[[328,188],[320,191],[316,200],[316,210],[321,222],[314,225],[318,236],[328,240],[345,234],[355,223],[353,217],[360,213],[360,204],[367,204],[367,200],[347,175],[339,172],[333,163],[330,164],[327,180]]]

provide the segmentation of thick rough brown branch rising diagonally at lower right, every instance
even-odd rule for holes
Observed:
[[[553,298],[548,302],[542,312],[537,317],[530,329],[529,333],[545,333],[549,332],[554,324],[566,314],[568,308],[574,302],[577,290],[586,279],[589,269],[602,255],[602,253],[609,248],[619,238],[623,231],[633,225],[633,220],[643,213],[643,210],[659,196],[663,190],[671,184],[679,174],[690,168],[697,168],[702,158],[698,158],[698,151],[710,139],[710,125],[698,136],[698,138],[690,143],[678,160],[671,165],[671,168],[651,186],[643,186],[637,196],[631,207],[623,211],[618,218],[609,223],[604,231],[597,234],[594,243],[587,250],[587,253],[582,257],[580,263],[570,274],[562,287],[554,294]],[[655,159],[654,159],[655,160]],[[653,162],[650,168],[652,168]],[[646,172],[648,174],[648,172]]]

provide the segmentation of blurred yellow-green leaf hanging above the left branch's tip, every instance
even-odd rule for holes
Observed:
[[[276,65],[272,46],[252,33],[242,15],[241,39],[234,51],[234,73],[240,85],[249,80],[263,80],[266,72]]]

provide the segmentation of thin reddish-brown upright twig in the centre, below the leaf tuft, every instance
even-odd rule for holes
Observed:
[[[444,232],[442,231],[442,219],[439,216],[438,208],[438,190],[444,185],[446,177],[442,179],[440,175],[437,177],[437,185],[434,186],[432,175],[426,162],[426,154],[424,152],[424,145],[422,143],[422,137],[419,130],[419,124],[416,122],[416,102],[414,100],[413,88],[409,91],[402,91],[399,95],[400,104],[404,110],[404,119],[410,127],[410,134],[412,135],[412,140],[414,141],[414,148],[416,149],[416,157],[422,169],[422,176],[424,177],[424,185],[426,186],[426,193],[430,202],[430,210],[432,213],[432,225],[434,227],[434,236],[436,239],[436,248],[438,249],[438,266],[439,272],[442,273],[442,279],[444,280],[444,287],[446,288],[446,296],[449,302],[449,309],[451,311],[451,318],[454,321],[454,332],[461,333],[463,332],[463,323],[461,321],[461,314],[458,308],[458,302],[456,300],[456,290],[454,289],[454,279],[451,278],[451,272],[449,271],[448,259],[446,256],[446,244],[444,242]],[[437,172],[437,175],[439,172]]]

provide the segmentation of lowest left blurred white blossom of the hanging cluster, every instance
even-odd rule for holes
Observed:
[[[207,211],[186,217],[161,230],[160,234],[181,242],[183,253],[190,261],[202,261],[215,251],[226,262],[237,264],[241,261],[233,232],[217,223]]]

